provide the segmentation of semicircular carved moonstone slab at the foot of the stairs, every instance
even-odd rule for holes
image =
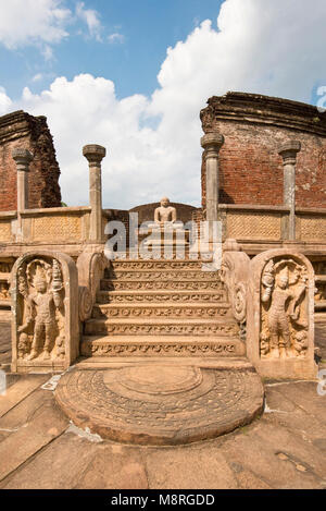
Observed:
[[[213,438],[250,423],[264,390],[250,369],[139,365],[74,369],[55,399],[73,423],[111,440],[177,445]]]

